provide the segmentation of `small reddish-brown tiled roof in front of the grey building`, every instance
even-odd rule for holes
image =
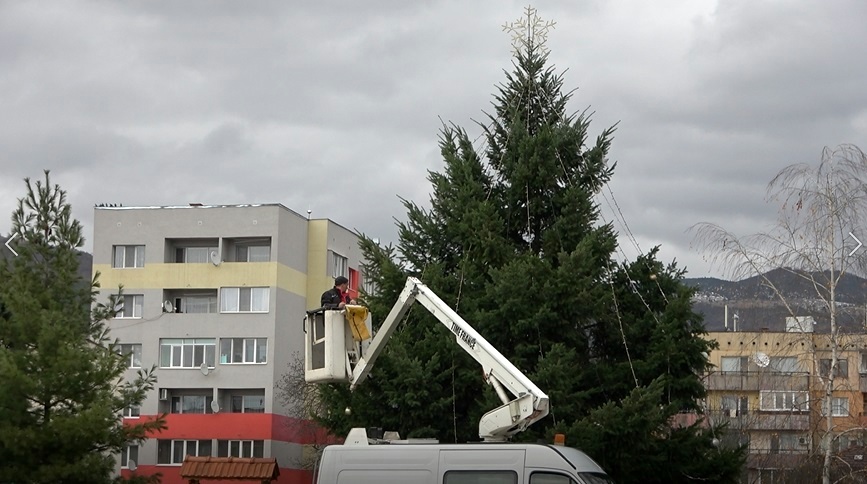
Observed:
[[[188,455],[181,466],[184,479],[270,480],[280,475],[277,459],[242,457],[196,457]]]

